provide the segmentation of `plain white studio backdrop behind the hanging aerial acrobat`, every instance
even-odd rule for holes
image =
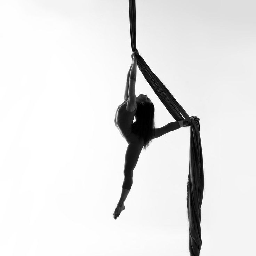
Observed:
[[[255,251],[255,1],[137,0],[137,49],[200,118],[201,255]],[[128,0],[0,1],[0,255],[189,255],[189,131],[142,150],[114,220],[127,143]],[[155,127],[175,121],[137,68]]]

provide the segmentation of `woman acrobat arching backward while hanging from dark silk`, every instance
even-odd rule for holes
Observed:
[[[174,131],[182,126],[190,126],[186,120],[168,123],[161,128],[154,128],[155,108],[147,95],[135,95],[135,81],[138,50],[132,54],[133,63],[130,66],[126,87],[125,101],[117,108],[115,113],[115,125],[121,135],[126,139],[128,146],[125,154],[124,180],[122,193],[113,213],[114,219],[125,209],[124,202],[133,184],[133,170],[139,159],[142,148],[146,150],[149,143],[154,138],[158,138],[170,131]],[[133,123],[133,119],[136,121]]]

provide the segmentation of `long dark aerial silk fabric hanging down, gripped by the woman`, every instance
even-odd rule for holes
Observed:
[[[156,2],[157,3],[157,2]],[[136,50],[136,8],[135,0],[129,0],[131,48]],[[191,256],[199,256],[201,239],[201,205],[203,199],[203,156],[200,138],[200,124],[197,118],[189,117],[187,112],[159,78],[152,72],[141,55],[136,55],[137,65],[143,76],[154,90],[160,101],[176,121],[184,120],[190,123],[189,175],[187,181],[187,213],[189,218],[189,251]],[[195,99],[196,101],[196,99]],[[184,118],[183,118],[184,117]]]

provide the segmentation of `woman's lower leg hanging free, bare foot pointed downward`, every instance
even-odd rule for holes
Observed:
[[[121,211],[125,209],[124,202],[133,184],[133,170],[138,162],[143,145],[144,144],[141,141],[137,141],[134,143],[129,143],[127,146],[123,171],[125,177],[123,179],[121,197],[113,214],[114,219],[116,219],[120,215]]]

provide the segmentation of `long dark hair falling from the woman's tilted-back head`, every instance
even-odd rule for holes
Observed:
[[[144,139],[143,149],[146,150],[153,139],[155,127],[154,122],[155,107],[153,103],[145,102],[144,105],[138,104],[131,131]]]

